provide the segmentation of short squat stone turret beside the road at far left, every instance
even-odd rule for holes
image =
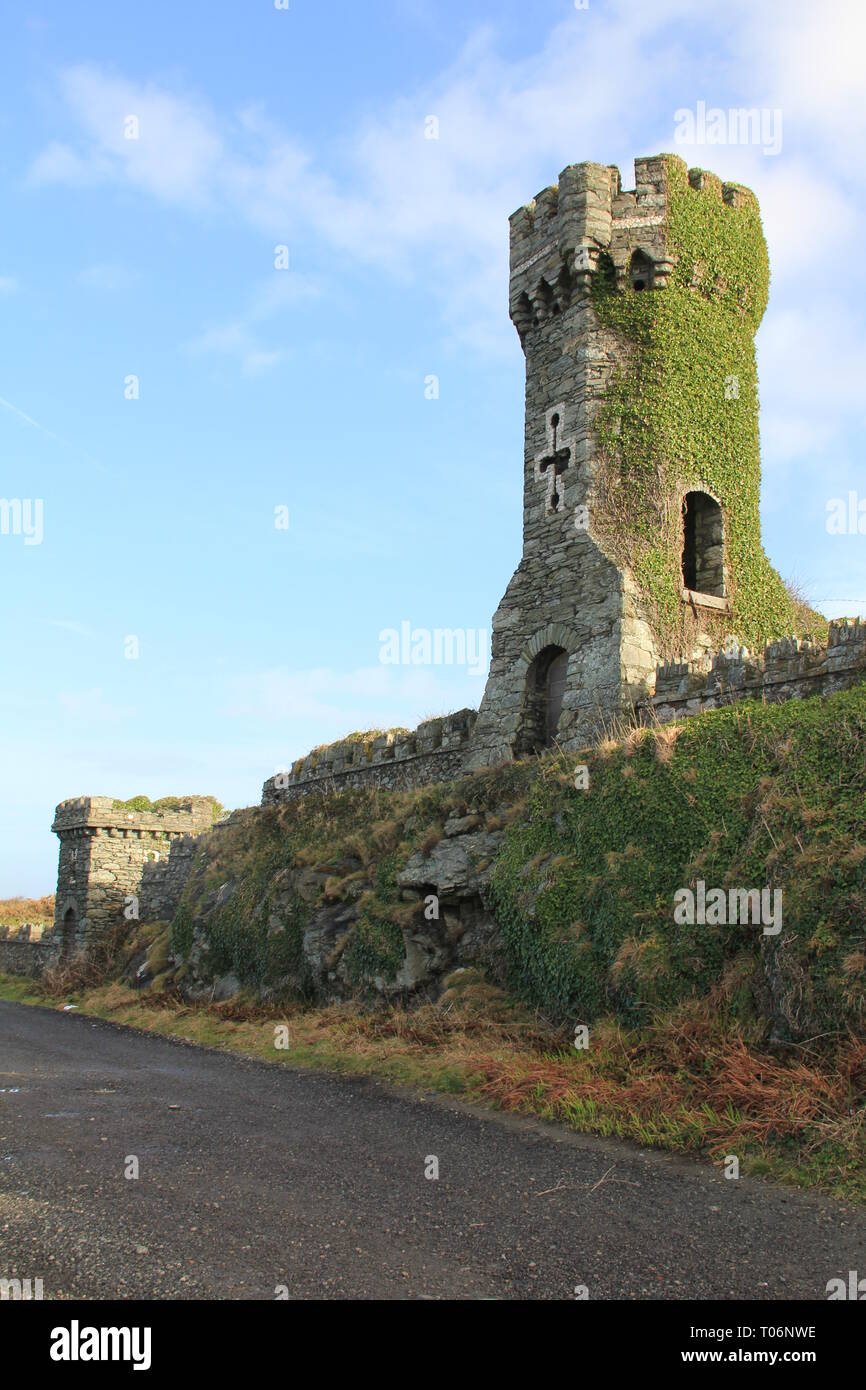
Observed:
[[[54,937],[63,956],[89,949],[129,919],[128,898],[142,898],[143,917],[171,916],[179,865],[175,849],[214,823],[213,796],[189,796],[170,808],[129,810],[111,796],[61,801],[51,830],[60,837]],[[182,841],[183,844],[178,844]],[[170,851],[174,873],[170,874]],[[179,884],[182,887],[182,883]],[[139,915],[138,912],[135,913]]]

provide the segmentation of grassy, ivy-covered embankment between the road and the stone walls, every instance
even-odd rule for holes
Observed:
[[[242,995],[183,1001],[168,924],[145,924],[113,980],[49,980],[42,998],[866,1197],[866,685],[634,731],[585,762],[588,790],[574,760],[552,756],[423,792],[245,813],[207,841],[179,913],[204,937],[215,924],[221,966],[249,962]],[[371,1004],[363,976],[338,1005],[261,1002],[281,894],[303,890],[306,917],[356,902],[343,949],[363,924],[366,949],[381,930],[392,951],[411,906],[396,873],[455,815],[505,830],[489,892],[502,980],[467,970],[411,1008]],[[781,891],[781,931],[678,924],[674,894],[699,878]],[[228,880],[238,892],[221,916],[207,903]],[[145,949],[156,986],[136,991],[122,976]]]

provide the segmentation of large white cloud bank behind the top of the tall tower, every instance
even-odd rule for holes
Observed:
[[[74,132],[36,158],[32,177],[113,179],[165,203],[220,204],[274,240],[311,235],[341,264],[435,286],[448,331],[496,352],[513,348],[503,284],[514,207],[588,156],[619,158],[630,182],[634,153],[674,147],[684,93],[710,106],[780,107],[780,156],[713,146],[695,157],[755,186],[777,285],[795,285],[810,316],[858,246],[866,8],[730,0],[708,13],[699,36],[691,19],[692,0],[566,7],[520,58],[502,57],[495,32],[480,28],[411,99],[384,104],[316,156],[260,104],[218,114],[196,96],[78,67],[61,78]],[[138,140],[124,138],[131,114]],[[438,140],[424,139],[431,114]],[[250,371],[278,360],[245,316],[209,328],[202,345],[234,352]]]

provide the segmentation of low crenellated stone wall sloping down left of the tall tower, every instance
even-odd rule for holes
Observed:
[[[466,769],[475,717],[474,709],[461,709],[442,719],[428,719],[411,734],[391,730],[316,749],[299,759],[291,771],[277,773],[265,781],[261,805],[348,787],[405,791],[459,777]]]

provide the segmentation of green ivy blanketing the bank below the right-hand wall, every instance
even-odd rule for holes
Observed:
[[[663,746],[663,745],[662,745]],[[744,703],[591,755],[589,790],[555,767],[506,835],[489,887],[513,984],[574,1022],[646,1022],[717,988],[765,1013],[774,940],[756,926],[674,922],[678,888],[781,888],[781,967],[820,1027],[866,1020],[866,685],[830,699]]]

